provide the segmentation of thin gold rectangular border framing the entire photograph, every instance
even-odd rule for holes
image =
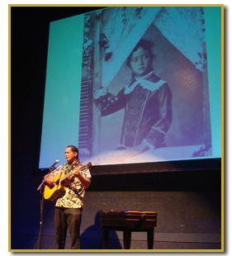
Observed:
[[[221,249],[98,249],[98,250],[88,250],[88,249],[80,249],[80,250],[71,250],[71,249],[64,249],[60,251],[59,249],[11,249],[11,7],[221,7]],[[9,220],[8,220],[8,252],[96,252],[96,253],[116,253],[116,252],[142,252],[142,253],[153,253],[153,252],[167,252],[167,253],[189,253],[189,252],[224,252],[224,4],[8,4],[8,41],[9,41],[9,52],[8,52],[8,127],[9,127],[9,135],[8,135],[8,213],[9,213]]]

